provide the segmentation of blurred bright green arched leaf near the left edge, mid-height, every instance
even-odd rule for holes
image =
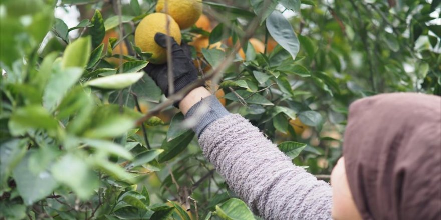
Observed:
[[[29,129],[45,129],[55,135],[58,121],[42,106],[29,105],[14,110],[8,128],[13,136],[24,135]]]

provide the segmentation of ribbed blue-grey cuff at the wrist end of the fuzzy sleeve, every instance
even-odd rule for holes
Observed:
[[[205,127],[211,122],[229,114],[227,109],[217,100],[216,96],[210,95],[193,105],[185,115],[185,119],[194,120],[192,123],[195,124],[193,130],[197,137],[199,137]]]

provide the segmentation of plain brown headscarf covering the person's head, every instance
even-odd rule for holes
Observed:
[[[349,109],[346,174],[363,219],[441,219],[441,98],[394,93]]]

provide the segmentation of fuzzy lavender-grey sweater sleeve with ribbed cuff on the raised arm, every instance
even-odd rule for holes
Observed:
[[[332,219],[332,191],[247,119],[209,96],[189,109],[203,154],[230,188],[264,219]]]

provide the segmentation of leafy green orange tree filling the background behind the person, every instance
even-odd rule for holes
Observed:
[[[0,1],[1,219],[258,218],[142,71],[134,32],[155,4]],[[201,77],[318,178],[353,100],[440,95],[439,0],[212,0],[203,13],[180,30]]]

